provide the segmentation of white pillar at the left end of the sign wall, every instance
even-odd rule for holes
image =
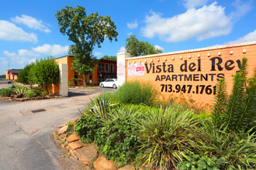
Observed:
[[[129,57],[130,53],[117,53],[117,87],[126,82],[126,59]]]

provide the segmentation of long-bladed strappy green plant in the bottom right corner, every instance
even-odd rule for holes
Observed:
[[[201,140],[200,148],[209,157],[225,158],[227,162],[222,165],[222,169],[229,168],[230,165],[236,169],[256,168],[256,135],[251,134],[251,130],[246,133],[237,134],[225,128],[216,128],[214,124],[207,122],[197,131]]]

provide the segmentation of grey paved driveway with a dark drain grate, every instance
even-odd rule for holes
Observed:
[[[61,124],[80,116],[90,97],[112,89],[71,89],[71,97],[26,102],[0,102],[0,169],[76,169],[65,162],[51,141]],[[44,109],[34,114],[31,110]]]

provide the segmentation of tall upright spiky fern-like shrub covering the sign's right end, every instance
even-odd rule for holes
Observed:
[[[240,72],[234,76],[232,93],[226,100],[226,85],[220,80],[216,88],[216,100],[213,110],[213,121],[217,128],[227,124],[230,131],[250,129],[255,122],[256,113],[256,70],[254,77],[247,80],[247,59],[243,58]],[[247,86],[247,81],[249,86]]]

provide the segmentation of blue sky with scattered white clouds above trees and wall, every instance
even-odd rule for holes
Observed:
[[[93,54],[116,56],[130,34],[164,53],[256,40],[254,0],[9,0],[0,1],[0,75],[46,56],[65,56],[72,42],[59,32],[55,14],[64,5],[109,15],[117,42]]]

